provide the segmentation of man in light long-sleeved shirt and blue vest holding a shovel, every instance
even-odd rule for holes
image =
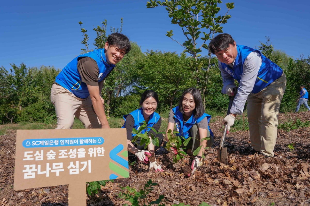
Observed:
[[[282,69],[258,50],[237,45],[229,34],[219,34],[212,39],[209,51],[219,60],[222,93],[233,96],[234,80],[239,83],[230,114],[223,120],[227,123],[227,133],[247,101],[252,153],[273,157],[280,103],[286,86]]]

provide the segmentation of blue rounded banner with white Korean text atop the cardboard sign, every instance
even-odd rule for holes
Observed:
[[[74,138],[49,138],[49,139],[26,139],[23,141],[23,147],[67,147],[83,145],[102,145],[102,137],[74,137]]]

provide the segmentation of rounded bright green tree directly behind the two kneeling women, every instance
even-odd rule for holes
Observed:
[[[164,105],[171,109],[185,89],[195,86],[195,80],[188,78],[191,71],[184,68],[189,61],[184,53],[147,53],[139,68],[139,85],[159,94],[159,111],[166,109]]]

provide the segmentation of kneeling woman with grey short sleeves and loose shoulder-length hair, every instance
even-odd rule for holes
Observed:
[[[168,128],[166,137],[168,137],[168,130],[173,131],[176,124],[176,131],[179,132],[177,136],[183,136],[185,139],[193,137],[188,143],[187,153],[193,153],[195,149],[202,146],[197,156],[192,162],[192,173],[197,167],[202,165],[202,154],[206,147],[211,147],[214,143],[213,133],[209,127],[211,116],[205,113],[201,94],[195,88],[188,88],[182,94],[179,101],[179,106],[170,110],[168,119]],[[210,140],[202,140],[209,137]],[[167,141],[169,141],[167,139]],[[170,153],[177,154],[176,149],[171,147]],[[190,174],[188,174],[190,176]]]

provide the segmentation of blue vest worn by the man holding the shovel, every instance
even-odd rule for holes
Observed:
[[[258,93],[266,86],[270,85],[274,80],[279,78],[283,73],[282,69],[278,65],[265,57],[262,53],[260,53],[259,50],[247,46],[237,45],[238,54],[233,68],[230,69],[230,67],[224,63],[221,63],[221,65],[222,68],[232,76],[232,78],[236,79],[240,83],[244,61],[246,57],[253,51],[259,52],[262,58],[262,65],[259,68],[257,79],[252,90],[253,93]]]

